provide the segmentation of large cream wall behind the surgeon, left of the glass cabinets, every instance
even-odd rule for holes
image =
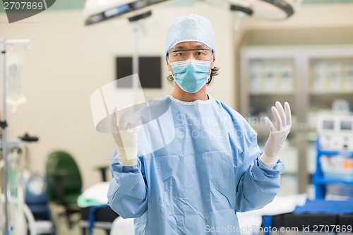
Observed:
[[[140,32],[142,56],[164,56],[167,26],[188,13],[207,16],[214,25],[217,66],[209,93],[234,106],[233,16],[222,8],[196,3],[193,6],[161,6],[146,20],[147,35]],[[222,17],[220,17],[222,16]],[[95,167],[108,165],[114,149],[112,137],[95,131],[90,110],[92,92],[114,80],[114,57],[131,56],[133,33],[127,20],[110,20],[85,27],[81,11],[44,11],[18,23],[7,23],[0,14],[0,37],[30,38],[34,47],[25,51],[27,102],[9,114],[9,135],[37,135],[28,144],[30,169],[44,172],[45,159],[55,149],[71,152],[83,171],[84,187],[100,181]],[[168,71],[163,61],[162,77]],[[147,97],[169,94],[172,86],[163,80],[162,90],[145,90]],[[9,107],[10,109],[10,107]]]

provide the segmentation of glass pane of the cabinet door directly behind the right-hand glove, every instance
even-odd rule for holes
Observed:
[[[246,118],[258,133],[259,145],[264,145],[268,138],[268,128],[265,126],[265,116],[273,120],[271,107],[276,101],[282,104],[289,102],[292,109],[295,102],[296,80],[294,61],[282,59],[249,59],[249,76],[246,83],[247,95]],[[292,110],[293,113],[294,110]]]

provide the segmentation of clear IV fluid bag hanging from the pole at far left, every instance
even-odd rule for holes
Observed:
[[[6,102],[18,105],[25,102],[23,92],[23,54],[6,52]]]

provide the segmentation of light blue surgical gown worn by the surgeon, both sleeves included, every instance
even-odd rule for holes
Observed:
[[[114,151],[108,204],[121,217],[135,218],[138,235],[240,234],[237,212],[270,203],[284,165],[279,160],[265,167],[256,132],[213,97],[162,100],[173,116],[164,130],[173,133],[172,141],[138,154],[134,167],[121,166]],[[153,133],[139,138],[139,152],[151,145]]]

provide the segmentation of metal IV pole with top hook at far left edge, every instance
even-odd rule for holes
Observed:
[[[2,129],[2,157],[4,159],[4,197],[5,197],[5,224],[3,229],[4,235],[9,235],[11,231],[10,210],[8,203],[8,135],[6,122],[6,44],[30,44],[30,40],[5,40],[4,37],[0,39],[1,50],[1,68],[2,68],[2,116],[4,120],[0,121]]]

